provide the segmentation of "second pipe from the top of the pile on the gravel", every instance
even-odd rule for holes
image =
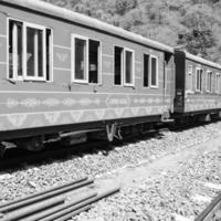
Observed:
[[[65,188],[57,189],[57,190],[52,191],[52,192],[46,192],[46,193],[44,193],[44,194],[36,196],[36,197],[34,197],[34,198],[31,198],[31,199],[28,199],[28,200],[18,202],[18,203],[15,203],[15,204],[10,204],[10,206],[8,206],[8,207],[1,208],[1,209],[0,209],[0,213],[1,213],[1,212],[6,212],[6,211],[11,211],[11,210],[14,210],[14,209],[21,208],[21,207],[23,207],[23,206],[27,206],[27,204],[31,204],[31,203],[41,201],[41,200],[45,200],[45,199],[49,199],[49,198],[51,198],[51,197],[54,197],[54,196],[57,196],[57,194],[67,192],[67,191],[70,191],[70,190],[77,189],[77,188],[84,187],[84,186],[86,186],[86,185],[91,185],[91,183],[93,183],[93,182],[94,182],[93,180],[86,180],[86,181],[83,181],[83,182],[80,182],[80,183],[75,183],[75,185],[73,185],[73,186],[67,186],[67,187],[65,187]]]

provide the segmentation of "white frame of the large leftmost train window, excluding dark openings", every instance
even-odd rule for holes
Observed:
[[[22,75],[19,76],[18,73],[13,73],[12,77],[9,75],[9,65],[10,65],[10,57],[9,57],[9,35],[10,35],[10,29],[9,24],[10,21],[14,22],[21,22],[22,23]],[[39,29],[43,31],[43,41],[42,41],[42,46],[43,46],[43,76],[28,76],[27,75],[27,28],[32,28],[32,29]],[[50,52],[50,73],[49,76],[50,78],[46,80],[46,30],[51,30],[51,39],[50,39],[50,45],[49,45],[49,52]],[[13,35],[13,33],[12,33]],[[7,78],[8,80],[13,80],[13,81],[34,81],[34,82],[53,82],[53,29],[49,27],[44,27],[41,24],[32,23],[32,22],[27,22],[17,18],[8,17],[7,18]],[[13,41],[12,41],[13,42]],[[13,53],[12,53],[13,56]],[[14,61],[14,60],[13,60]]]

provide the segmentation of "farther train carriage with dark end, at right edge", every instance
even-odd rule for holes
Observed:
[[[219,115],[221,110],[221,65],[175,50],[176,98],[179,116]]]

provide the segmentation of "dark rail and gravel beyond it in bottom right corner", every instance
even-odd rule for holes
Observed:
[[[221,219],[221,192],[197,217],[194,221],[218,221]]]

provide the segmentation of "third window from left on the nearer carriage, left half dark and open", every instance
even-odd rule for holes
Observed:
[[[114,48],[114,84],[134,85],[134,51],[120,46]]]

